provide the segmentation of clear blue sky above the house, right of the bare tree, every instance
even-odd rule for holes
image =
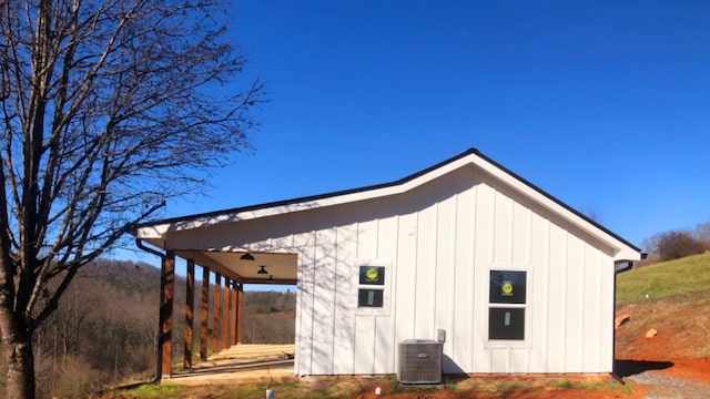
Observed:
[[[710,2],[227,8],[256,151],[164,216],[354,188],[477,147],[641,246],[710,221]]]

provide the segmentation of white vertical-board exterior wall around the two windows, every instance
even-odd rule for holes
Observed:
[[[298,254],[297,375],[394,374],[397,342],[437,329],[445,372],[611,371],[611,250],[474,166],[396,196],[170,239]],[[357,308],[359,265],[385,266],[382,309]],[[525,340],[487,338],[491,269],[527,272]]]

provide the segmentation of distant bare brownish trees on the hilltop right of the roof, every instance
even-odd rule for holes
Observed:
[[[679,259],[710,250],[710,222],[693,229],[672,229],[643,241],[648,254],[645,264]]]

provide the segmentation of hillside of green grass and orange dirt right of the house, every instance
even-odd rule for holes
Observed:
[[[616,331],[617,358],[710,357],[710,254],[618,275],[617,315],[630,316]],[[651,328],[657,336],[646,338]]]

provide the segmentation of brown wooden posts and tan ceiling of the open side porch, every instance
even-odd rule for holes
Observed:
[[[230,347],[242,342],[243,293],[246,284],[296,285],[297,255],[294,253],[252,252],[232,248],[215,249],[199,247],[199,245],[166,249],[165,239],[156,237],[159,235],[164,238],[164,234],[168,232],[182,232],[183,228],[181,227],[190,224],[185,218],[164,219],[139,226],[135,233],[136,245],[141,249],[161,258],[158,375],[162,379],[170,378],[173,375],[171,365],[173,362],[172,329],[176,258],[183,258],[186,264],[183,342],[183,366],[185,369],[193,368],[194,334],[199,335],[199,352],[202,362],[207,360],[209,346],[211,346],[211,351],[214,355],[220,351],[226,351]],[[184,236],[184,234],[180,235]],[[199,243],[200,241],[195,239],[194,242]],[[150,246],[146,244],[150,244]],[[202,269],[201,287],[195,287],[195,269],[197,269],[197,273]],[[213,307],[209,306],[211,284],[214,286],[212,290]],[[195,304],[195,300],[197,304]],[[197,331],[193,331],[195,306],[201,309]],[[209,334],[210,324],[212,325],[211,337]]]

